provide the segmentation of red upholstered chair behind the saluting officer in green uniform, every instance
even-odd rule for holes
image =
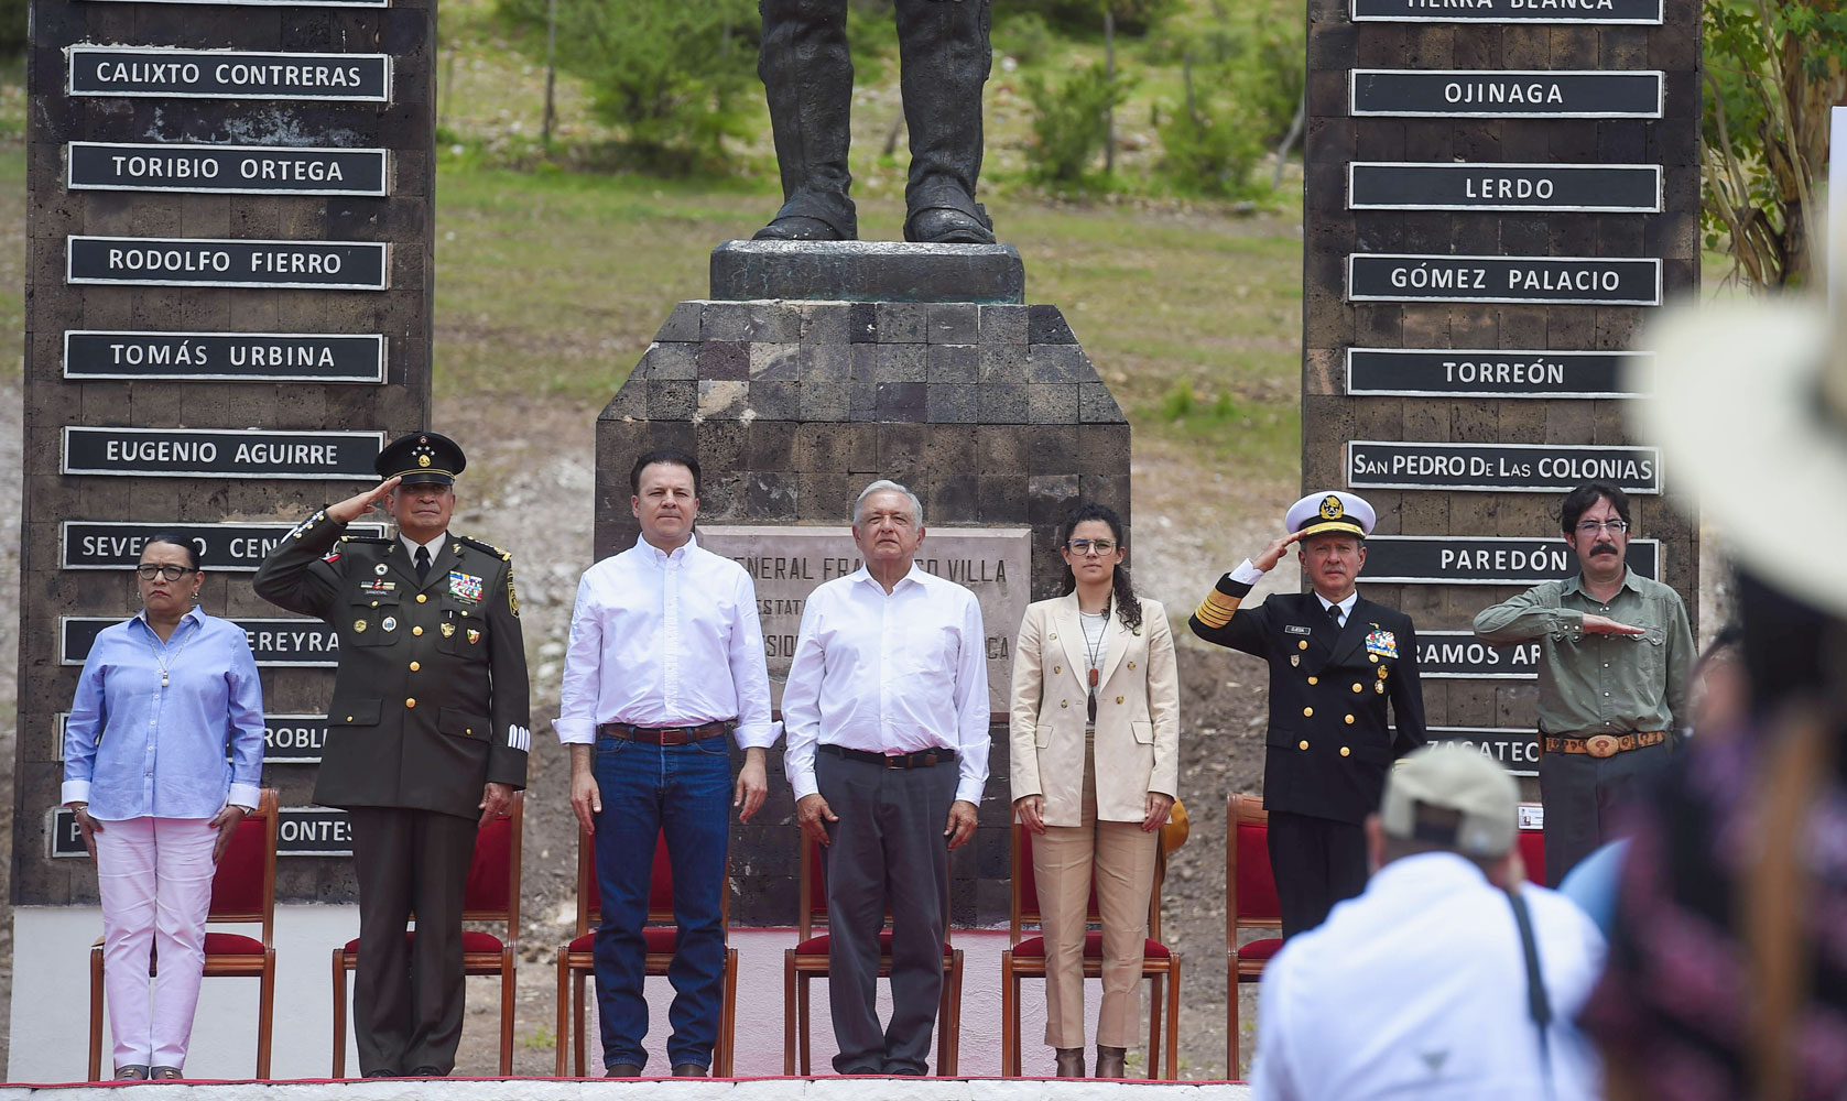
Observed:
[[[525,822],[523,791],[513,804],[475,835],[475,863],[462,889],[462,920],[493,922],[504,933],[462,931],[462,974],[501,975],[501,1073],[513,1073],[513,999],[519,961],[519,839]],[[404,937],[416,938],[410,929]],[[358,964],[358,940],[334,950],[334,1073],[345,1077],[345,977]]]

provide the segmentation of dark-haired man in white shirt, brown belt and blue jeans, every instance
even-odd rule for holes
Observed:
[[[674,1077],[704,1077],[722,1003],[726,796],[748,822],[768,791],[770,676],[750,576],[693,538],[698,460],[650,451],[628,478],[641,539],[584,571],[552,728],[571,746],[571,809],[597,839],[606,1073],[637,1077],[648,1060],[641,927],[665,831],[680,926],[667,1057]],[[744,750],[735,785],[726,735]]]

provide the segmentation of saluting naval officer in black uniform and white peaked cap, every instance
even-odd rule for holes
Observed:
[[[1374,519],[1363,497],[1310,493],[1284,517],[1289,534],[1219,578],[1191,619],[1195,635],[1269,663],[1263,807],[1284,937],[1365,890],[1361,826],[1380,807],[1391,763],[1424,744],[1411,617],[1356,587]],[[1297,541],[1311,591],[1241,608]]]

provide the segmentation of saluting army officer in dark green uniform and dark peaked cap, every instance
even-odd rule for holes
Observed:
[[[255,582],[266,600],[340,632],[314,802],[353,817],[353,1020],[366,1077],[454,1070],[475,831],[526,785],[513,556],[449,534],[464,462],[436,432],[392,442],[377,462],[384,482],[303,521]],[[397,538],[344,534],[380,501]]]

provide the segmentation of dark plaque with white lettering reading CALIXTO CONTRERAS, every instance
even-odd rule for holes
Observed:
[[[65,48],[72,96],[392,100],[390,54],[251,54],[170,46]]]

